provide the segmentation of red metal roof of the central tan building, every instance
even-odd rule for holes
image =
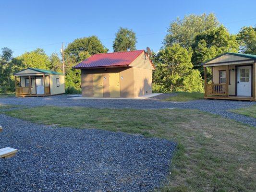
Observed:
[[[144,50],[95,54],[78,63],[73,68],[86,69],[129,66],[142,52]]]

